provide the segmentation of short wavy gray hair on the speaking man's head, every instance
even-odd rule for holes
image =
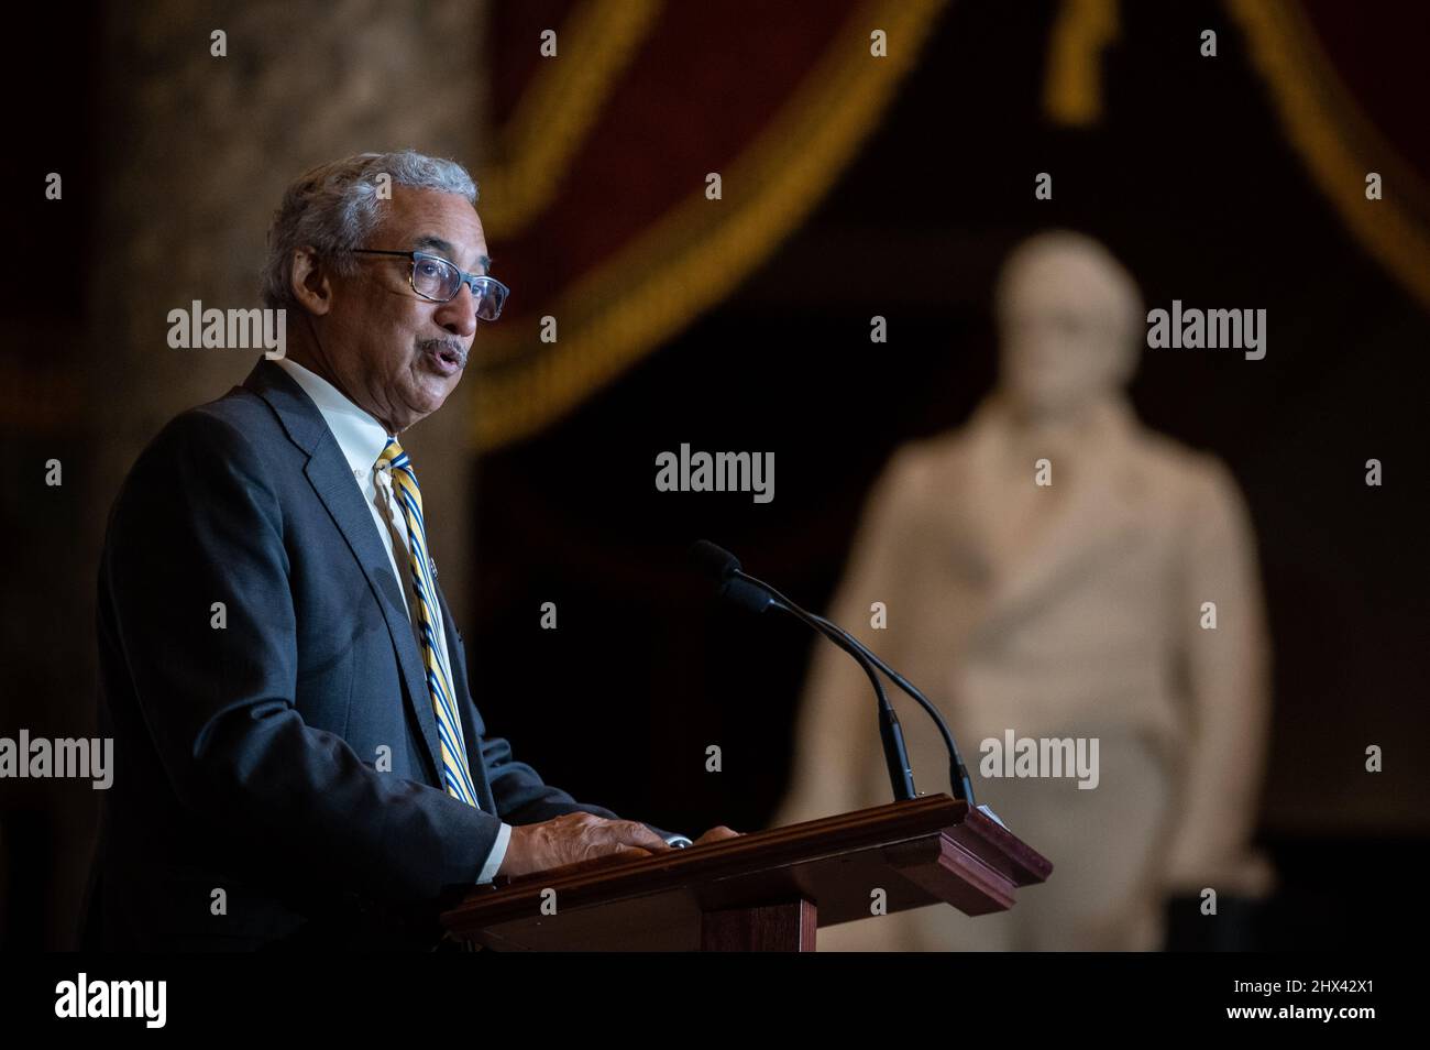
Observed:
[[[386,183],[382,176],[388,176]],[[410,149],[356,153],[305,172],[283,192],[269,226],[263,305],[299,309],[292,289],[293,252],[299,247],[312,247],[335,273],[352,273],[356,262],[347,250],[360,247],[378,227],[385,185],[459,193],[476,205],[476,183],[462,165]]]

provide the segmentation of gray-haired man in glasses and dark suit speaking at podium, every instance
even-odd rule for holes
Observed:
[[[430,948],[473,884],[671,848],[515,761],[468,688],[399,435],[506,299],[475,203],[412,152],[297,179],[263,275],[286,356],[173,419],[120,489],[86,947]]]

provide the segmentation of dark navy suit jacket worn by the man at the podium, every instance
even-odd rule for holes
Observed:
[[[500,820],[615,817],[485,735],[438,589],[480,810],[440,787],[398,581],[313,402],[260,360],[173,419],[120,489],[100,561],[116,771],[82,946],[432,947]]]

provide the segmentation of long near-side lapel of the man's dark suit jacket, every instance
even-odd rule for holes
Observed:
[[[408,710],[422,728],[428,758],[432,762],[433,782],[440,784],[442,752],[438,744],[436,714],[428,692],[426,667],[422,662],[422,654],[418,652],[418,642],[412,634],[412,622],[403,608],[402,595],[392,578],[388,551],[378,536],[372,511],[363,502],[362,491],[353,481],[347,461],[343,458],[342,449],[337,448],[337,439],[327,429],[317,406],[279,365],[260,360],[243,385],[273,408],[293,443],[309,455],[303,474],[307,475],[313,492],[327,508],[337,531],[347,541],[347,549],[358,559],[358,566],[366,576],[368,587],[372,588],[373,599],[382,609],[406,685]]]

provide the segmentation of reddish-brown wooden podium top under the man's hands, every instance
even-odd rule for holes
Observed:
[[[479,887],[442,916],[499,951],[814,951],[815,928],[951,904],[1007,911],[1052,864],[945,794]],[[545,907],[543,907],[545,906]]]

